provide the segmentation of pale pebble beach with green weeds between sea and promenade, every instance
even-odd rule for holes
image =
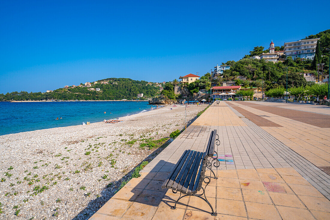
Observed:
[[[190,106],[187,119],[206,107]],[[120,119],[0,136],[1,218],[20,210],[23,219],[88,219],[114,194],[118,180],[161,150],[141,143],[184,126],[184,107],[165,105]]]

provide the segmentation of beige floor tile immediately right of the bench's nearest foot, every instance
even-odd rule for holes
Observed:
[[[221,214],[246,217],[243,201],[217,199],[216,210]]]

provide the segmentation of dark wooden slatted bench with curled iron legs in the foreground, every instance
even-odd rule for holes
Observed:
[[[217,179],[215,173],[212,170],[212,166],[219,167],[220,163],[217,159],[217,152],[215,151],[215,145],[219,145],[219,136],[216,134],[216,130],[211,132],[209,142],[205,152],[198,152],[194,150],[185,150],[175,165],[174,170],[165,180],[162,189],[172,189],[173,193],[180,192],[179,199],[175,202],[171,209],[176,209],[176,205],[180,199],[186,196],[196,196],[203,199],[210,205],[212,216],[216,216],[212,205],[209,203],[205,196],[205,188],[211,182],[211,178]],[[209,169],[210,176],[205,175],[206,169]],[[213,174],[213,176],[211,176]],[[206,184],[203,188],[203,182]],[[200,190],[203,193],[197,194]],[[185,194],[181,196],[181,194]],[[204,198],[202,197],[204,195]]]

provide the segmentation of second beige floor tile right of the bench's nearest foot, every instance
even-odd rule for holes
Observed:
[[[246,202],[250,218],[276,220],[281,219],[274,205]]]

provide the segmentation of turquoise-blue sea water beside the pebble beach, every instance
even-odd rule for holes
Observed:
[[[147,110],[151,110],[148,102],[0,102],[0,135],[100,122]]]

